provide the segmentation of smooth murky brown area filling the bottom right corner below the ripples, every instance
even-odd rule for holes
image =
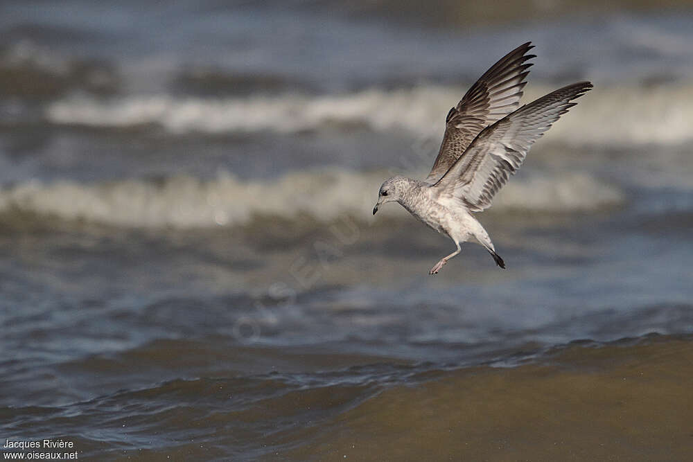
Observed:
[[[572,346],[543,364],[394,387],[315,429],[296,460],[684,461],[693,339]]]

